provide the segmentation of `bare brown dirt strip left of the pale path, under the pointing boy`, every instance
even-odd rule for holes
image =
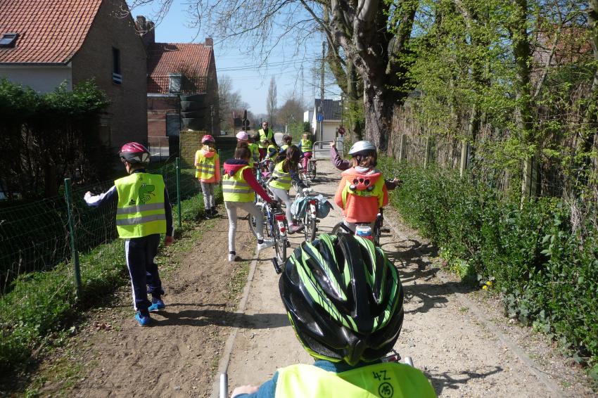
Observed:
[[[222,213],[222,210],[221,210]],[[133,319],[127,288],[120,303],[91,317],[78,338],[75,360],[82,378],[69,397],[204,397],[211,392],[224,342],[235,322],[249,262],[229,264],[226,216],[202,224],[203,236],[191,244],[177,269],[163,281],[164,312],[152,314],[153,326],[140,328]],[[239,223],[239,255],[253,257],[255,239]],[[239,250],[241,249],[241,250]],[[167,265],[167,264],[165,264]],[[239,274],[235,290],[231,278]],[[233,291],[231,291],[231,289]],[[258,318],[260,316],[257,316]],[[108,330],[94,325],[109,324]],[[55,394],[60,381],[46,383],[42,395]]]

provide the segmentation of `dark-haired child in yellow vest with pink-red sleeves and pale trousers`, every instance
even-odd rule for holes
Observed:
[[[273,240],[265,240],[263,236],[264,217],[262,210],[255,205],[255,193],[267,203],[274,203],[264,188],[257,182],[253,169],[249,167],[251,151],[247,143],[239,142],[235,150],[235,158],[224,162],[222,177],[222,194],[224,205],[229,216],[229,262],[240,261],[236,255],[235,238],[237,210],[245,210],[255,217],[257,230],[257,251],[274,245]]]

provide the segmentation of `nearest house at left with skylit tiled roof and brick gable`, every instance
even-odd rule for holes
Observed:
[[[53,91],[95,79],[101,139],[147,141],[146,51],[124,0],[0,0],[0,77]]]

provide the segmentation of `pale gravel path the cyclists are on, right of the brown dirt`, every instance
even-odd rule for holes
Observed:
[[[338,172],[327,162],[319,163],[322,178],[313,188],[331,197]],[[397,224],[397,214],[385,215]],[[340,220],[337,208],[322,220],[319,232],[331,231]],[[414,359],[440,397],[592,396],[583,373],[554,353],[545,338],[509,324],[500,314],[500,303],[484,303],[479,293],[463,290],[432,262],[435,249],[413,231],[393,229],[381,242],[399,267],[406,292],[405,321],[395,349]],[[300,238],[291,243],[295,248]],[[260,257],[272,256],[269,252]],[[259,385],[276,368],[312,363],[288,323],[277,281],[270,262],[257,264],[246,315],[262,314],[262,322],[256,319],[236,334],[228,364],[229,392],[237,385]],[[526,342],[526,348],[518,342]]]

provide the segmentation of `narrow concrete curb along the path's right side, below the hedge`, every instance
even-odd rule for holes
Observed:
[[[391,221],[390,219],[387,219],[385,217],[384,222],[385,222],[385,224],[390,226],[390,228],[393,229],[395,235],[400,236],[398,226],[395,224],[394,221]],[[552,392],[552,394],[554,394],[554,396],[556,396],[556,397],[566,397],[566,394],[564,394],[564,392],[559,388],[559,386],[556,385],[556,383],[554,383],[552,380],[550,380],[549,377],[547,377],[547,373],[542,372],[538,368],[535,361],[533,361],[533,359],[531,359],[528,356],[528,354],[525,351],[523,351],[523,349],[521,349],[521,347],[519,347],[519,345],[517,345],[513,340],[511,340],[509,338],[509,336],[502,333],[502,331],[499,328],[497,328],[495,323],[492,322],[492,320],[490,320],[488,318],[488,316],[485,316],[483,310],[478,306],[478,304],[469,300],[469,298],[466,295],[464,295],[463,293],[459,293],[454,287],[452,287],[452,285],[449,285],[447,283],[447,282],[449,282],[449,278],[448,278],[447,274],[440,271],[440,272],[436,273],[436,276],[438,277],[438,279],[440,279],[440,281],[442,281],[445,284],[445,286],[447,286],[447,288],[449,288],[449,290],[453,293],[454,297],[457,297],[457,300],[461,304],[463,304],[465,307],[468,307],[469,309],[471,309],[471,312],[473,312],[473,314],[478,319],[483,321],[485,328],[490,330],[490,333],[494,334],[495,337],[498,340],[500,340],[500,342],[502,342],[502,344],[504,344],[506,347],[509,347],[511,352],[521,362],[523,362],[523,364],[526,364],[526,366],[528,366],[530,371],[535,375],[535,377],[538,380],[540,380],[540,382],[542,382],[542,384],[545,385],[547,390]]]

